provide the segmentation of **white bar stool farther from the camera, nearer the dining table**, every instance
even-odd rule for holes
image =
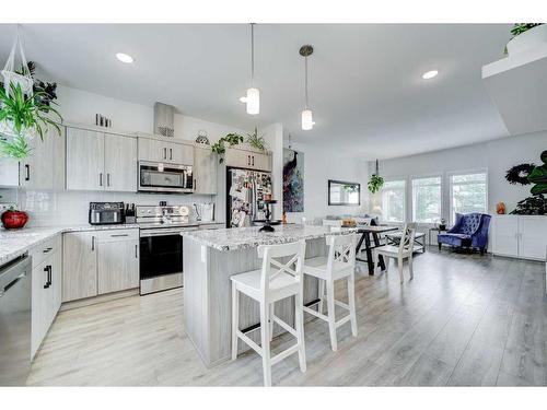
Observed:
[[[328,246],[327,257],[316,257],[304,261],[304,273],[319,280],[319,303],[317,311],[304,306],[304,312],[328,323],[330,345],[338,349],[336,329],[347,321],[351,321],[351,333],[357,336],[356,317],[356,234],[329,235],[326,237]],[[335,281],[348,281],[348,304],[335,300]],[[323,302],[327,288],[327,315],[323,314]],[[336,321],[335,305],[340,306],[349,314]]]

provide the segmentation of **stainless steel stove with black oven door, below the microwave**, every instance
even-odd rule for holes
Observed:
[[[183,285],[184,231],[195,231],[186,206],[137,207],[140,227],[140,294]]]

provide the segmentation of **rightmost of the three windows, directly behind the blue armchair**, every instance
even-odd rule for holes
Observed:
[[[450,177],[451,222],[456,213],[487,211],[487,175],[486,173],[458,174]]]

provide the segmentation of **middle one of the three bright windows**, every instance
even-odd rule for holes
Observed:
[[[412,179],[412,221],[433,223],[441,219],[442,178]]]

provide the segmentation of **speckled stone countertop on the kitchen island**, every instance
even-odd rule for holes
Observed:
[[[347,235],[354,230],[347,229],[331,232],[328,226],[315,225],[278,225],[276,232],[258,232],[259,226],[233,227],[214,231],[183,232],[184,237],[191,238],[218,250],[240,250],[258,245],[277,245],[300,239],[315,239],[327,235]]]

